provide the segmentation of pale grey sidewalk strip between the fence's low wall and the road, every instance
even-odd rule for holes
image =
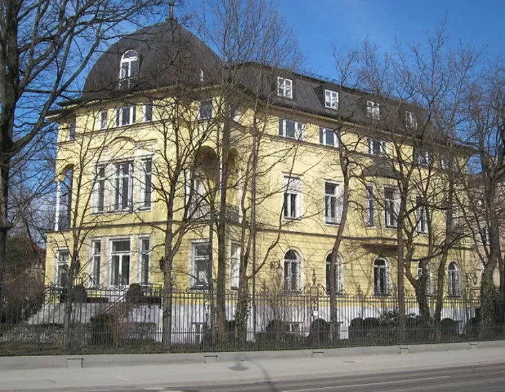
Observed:
[[[439,349],[446,349],[439,345]],[[468,344],[466,345],[468,347]],[[464,347],[464,346],[461,346]],[[370,353],[374,353],[370,348]],[[413,351],[413,350],[411,350]],[[370,354],[369,353],[369,354]],[[505,362],[503,344],[477,349],[424,351],[417,353],[376,353],[325,358],[262,358],[215,363],[116,365],[82,369],[0,370],[0,391],[69,391],[117,387],[196,386],[271,380],[297,380],[330,375],[370,374]]]

